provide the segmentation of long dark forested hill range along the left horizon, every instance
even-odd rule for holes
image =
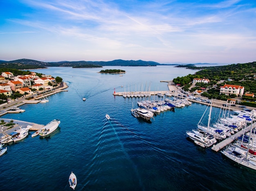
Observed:
[[[30,65],[30,66],[57,66],[57,67],[65,67],[65,66],[157,66],[160,65],[154,61],[143,61],[143,60],[113,60],[113,61],[59,61],[59,62],[42,62],[31,59],[18,59],[13,61],[0,61],[0,65],[7,64],[22,64],[22,65]]]

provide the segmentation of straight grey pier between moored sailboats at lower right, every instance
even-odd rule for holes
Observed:
[[[256,126],[256,123],[252,124],[252,127],[254,128]],[[224,139],[223,141],[221,141],[220,143],[218,143],[217,145],[213,145],[213,147],[211,147],[211,149],[213,151],[219,151],[220,149],[222,149],[223,147],[227,146],[228,144],[232,143],[233,141],[235,141],[238,137],[242,136],[244,131],[245,133],[249,132],[251,129],[251,125],[249,125],[248,127],[245,127],[245,130],[242,129],[239,132],[235,133],[234,135],[230,136],[229,138]]]

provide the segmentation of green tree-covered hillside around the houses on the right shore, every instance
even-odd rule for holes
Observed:
[[[180,83],[185,91],[194,92],[200,88],[207,88],[207,92],[203,92],[202,96],[209,99],[227,100],[234,98],[236,95],[220,94],[220,87],[225,85],[240,85],[245,87],[244,92],[254,93],[256,95],[256,62],[245,64],[231,64],[227,66],[210,66],[210,67],[189,67],[191,69],[201,69],[194,75],[187,75],[184,77],[177,77],[173,79],[174,83]],[[207,78],[210,83],[196,83],[194,88],[190,88],[194,78]],[[220,82],[222,81],[222,82]]]

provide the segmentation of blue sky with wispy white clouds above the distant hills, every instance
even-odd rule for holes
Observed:
[[[256,61],[255,0],[0,0],[0,60]]]

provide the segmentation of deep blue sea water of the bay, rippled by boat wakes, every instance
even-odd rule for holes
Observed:
[[[126,73],[99,73],[105,69]],[[77,191],[255,190],[256,171],[186,138],[186,131],[197,127],[207,105],[175,108],[147,123],[130,112],[141,98],[113,95],[114,91],[168,90],[167,82],[160,81],[196,70],[104,66],[33,71],[63,78],[67,91],[48,96],[47,103],[22,105],[23,113],[1,117],[43,125],[53,119],[61,123],[46,138],[31,138],[30,132],[24,140],[7,145],[7,153],[0,157],[0,190],[72,190],[71,172],[77,177]]]

